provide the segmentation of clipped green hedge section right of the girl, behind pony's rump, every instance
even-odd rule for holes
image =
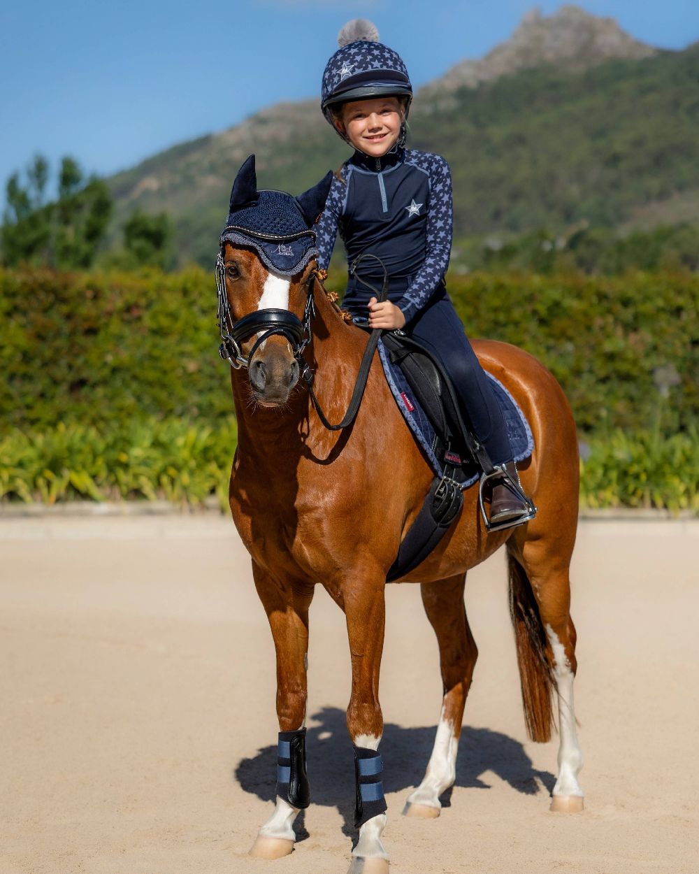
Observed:
[[[696,423],[699,276],[477,274],[449,288],[467,333],[553,371],[582,431]]]

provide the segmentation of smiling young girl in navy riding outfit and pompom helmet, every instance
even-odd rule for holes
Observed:
[[[452,245],[449,166],[439,155],[405,149],[412,85],[398,53],[378,42],[376,27],[363,19],[351,21],[338,43],[322,77],[322,111],[355,151],[333,180],[317,225],[319,264],[328,268],[338,232],[350,265],[362,253],[383,261],[388,300],[377,302],[350,274],[343,307],[372,329],[403,329],[429,346],[451,376],[491,461],[518,480],[495,392],[446,294]],[[362,278],[373,285],[383,281],[377,261],[363,261]],[[529,506],[508,477],[496,479],[491,530],[529,518]]]

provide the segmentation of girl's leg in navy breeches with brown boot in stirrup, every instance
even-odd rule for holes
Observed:
[[[462,410],[474,434],[494,464],[504,464],[517,478],[502,410],[486,372],[476,357],[463,324],[446,293],[438,289],[433,300],[407,328],[412,336],[433,348],[452,378]],[[490,503],[491,524],[511,522],[529,515],[523,497],[509,489],[504,477],[495,480]]]

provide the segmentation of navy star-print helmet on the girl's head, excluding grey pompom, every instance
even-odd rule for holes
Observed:
[[[410,99],[412,85],[403,59],[383,43],[357,39],[343,45],[322,74],[321,108],[330,123],[333,104],[393,94]]]

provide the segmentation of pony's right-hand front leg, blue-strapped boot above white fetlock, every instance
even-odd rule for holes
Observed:
[[[361,582],[357,582],[361,580]],[[344,593],[344,611],[352,659],[352,693],[347,728],[355,753],[355,825],[359,839],[349,874],[386,874],[388,856],[381,836],[386,825],[383,761],[377,752],[384,733],[378,703],[378,675],[384,649],[384,576],[358,576]]]

